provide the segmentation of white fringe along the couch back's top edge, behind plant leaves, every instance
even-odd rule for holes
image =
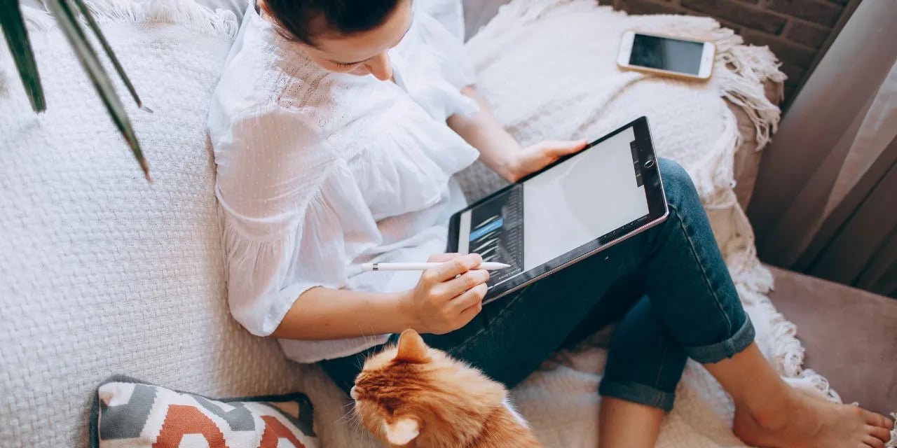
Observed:
[[[239,30],[237,16],[231,11],[212,11],[194,0],[88,0],[94,19],[107,23],[167,23],[187,26],[209,36],[234,39]],[[56,19],[46,10],[22,6],[22,16],[30,31],[56,30]]]

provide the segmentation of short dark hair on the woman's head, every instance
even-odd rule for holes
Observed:
[[[396,5],[408,0],[264,0],[291,39],[315,45],[315,33],[334,30],[340,34],[373,30],[387,22]],[[320,22],[323,19],[323,23]],[[321,28],[326,25],[326,29]]]

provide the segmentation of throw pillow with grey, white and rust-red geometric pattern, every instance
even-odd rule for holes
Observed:
[[[91,448],[318,448],[303,393],[210,400],[125,376],[97,388]]]

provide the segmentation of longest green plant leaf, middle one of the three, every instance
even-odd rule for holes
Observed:
[[[103,104],[106,105],[106,109],[109,111],[109,116],[112,117],[112,121],[118,126],[118,131],[125,137],[125,140],[131,147],[131,151],[134,152],[137,163],[144,170],[144,176],[147,180],[152,181],[150,168],[146,163],[146,159],[144,159],[143,151],[140,150],[140,143],[137,142],[134,127],[131,125],[131,120],[127,117],[125,106],[118,99],[115,88],[112,86],[111,80],[109,80],[109,74],[103,69],[96,51],[93,50],[90,41],[84,35],[84,30],[81,28],[81,23],[73,12],[69,0],[48,0],[47,6],[50,13],[56,17],[59,29],[63,31],[65,38],[68,39],[75,56],[78,57],[78,62],[81,63],[84,71],[91,78],[94,89],[97,90],[100,99],[102,99]]]

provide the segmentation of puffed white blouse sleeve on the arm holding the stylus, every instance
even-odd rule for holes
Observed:
[[[308,118],[272,106],[213,123],[231,314],[266,336],[303,292],[343,288],[349,262],[379,244],[379,232]]]

